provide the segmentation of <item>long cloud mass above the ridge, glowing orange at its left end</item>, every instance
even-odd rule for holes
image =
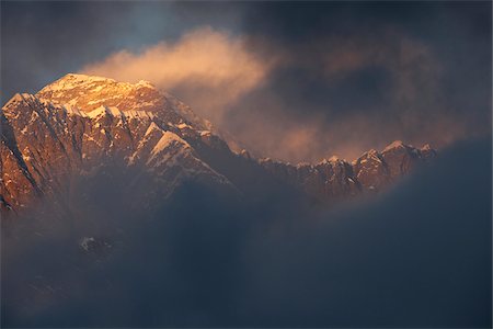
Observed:
[[[203,26],[83,68],[149,80],[260,157],[352,160],[394,139],[445,147],[471,129],[433,47],[390,27],[285,42]]]

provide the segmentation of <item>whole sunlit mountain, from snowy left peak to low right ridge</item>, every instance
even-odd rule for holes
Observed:
[[[81,197],[80,182],[101,174],[114,178],[114,191],[128,192],[137,208],[156,206],[187,181],[240,198],[287,189],[332,203],[380,191],[436,155],[428,145],[394,141],[351,163],[255,159],[232,151],[227,134],[149,82],[73,73],[36,94],[15,94],[0,117],[4,214],[43,203],[69,212]]]

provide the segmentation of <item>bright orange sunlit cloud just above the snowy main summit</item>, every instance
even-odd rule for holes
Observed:
[[[149,80],[220,122],[228,105],[262,84],[273,61],[255,57],[241,36],[205,26],[138,54],[117,52],[82,71],[122,81]]]

